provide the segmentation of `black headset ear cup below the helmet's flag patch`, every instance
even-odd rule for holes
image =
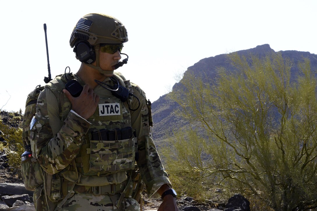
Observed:
[[[74,46],[76,58],[86,64],[91,64],[96,60],[93,47],[86,41],[79,41]]]

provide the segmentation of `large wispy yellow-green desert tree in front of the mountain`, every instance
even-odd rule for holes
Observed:
[[[171,179],[201,199],[241,193],[274,210],[316,208],[317,101],[310,61],[303,58],[291,79],[294,64],[280,53],[229,59],[236,71],[219,68],[214,80],[186,74],[170,93],[190,126],[170,138],[174,148],[165,156]]]

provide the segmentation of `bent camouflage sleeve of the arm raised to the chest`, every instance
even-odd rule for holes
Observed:
[[[90,127],[89,122],[74,112],[69,112],[64,121],[60,116],[56,95],[45,88],[37,100],[36,122],[31,125],[31,136],[32,151],[48,174],[55,174],[72,162]]]

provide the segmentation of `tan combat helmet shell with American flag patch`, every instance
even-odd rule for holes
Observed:
[[[77,22],[69,44],[74,47],[80,40],[86,40],[92,46],[100,43],[119,44],[128,41],[128,34],[124,25],[115,17],[92,13]]]

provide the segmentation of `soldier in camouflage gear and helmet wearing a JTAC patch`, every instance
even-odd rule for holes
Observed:
[[[152,140],[151,107],[145,93],[114,72],[125,26],[116,18],[88,14],[70,38],[81,66],[49,82],[31,122],[32,151],[44,170],[36,210],[131,210],[137,163],[150,198],[178,210],[176,193]]]

